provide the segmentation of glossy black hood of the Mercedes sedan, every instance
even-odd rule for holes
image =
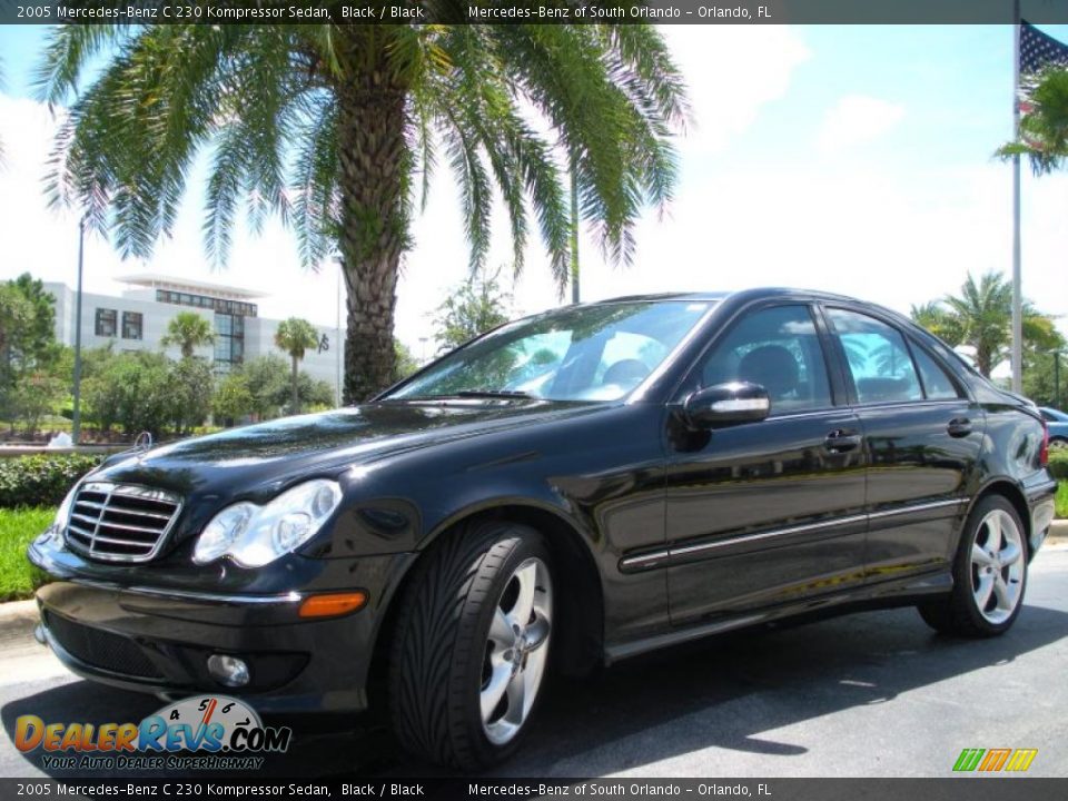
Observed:
[[[159,487],[187,498],[206,493],[253,497],[273,494],[294,478],[593,408],[541,399],[367,404],[117,454],[92,479]]]

